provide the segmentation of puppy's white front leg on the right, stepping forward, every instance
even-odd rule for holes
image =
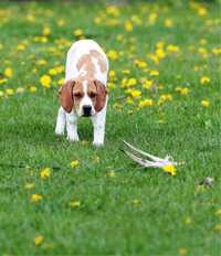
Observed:
[[[93,145],[101,147],[104,145],[105,136],[105,122],[106,122],[106,106],[102,109],[101,113],[97,113],[92,117],[94,126],[94,141]]]

